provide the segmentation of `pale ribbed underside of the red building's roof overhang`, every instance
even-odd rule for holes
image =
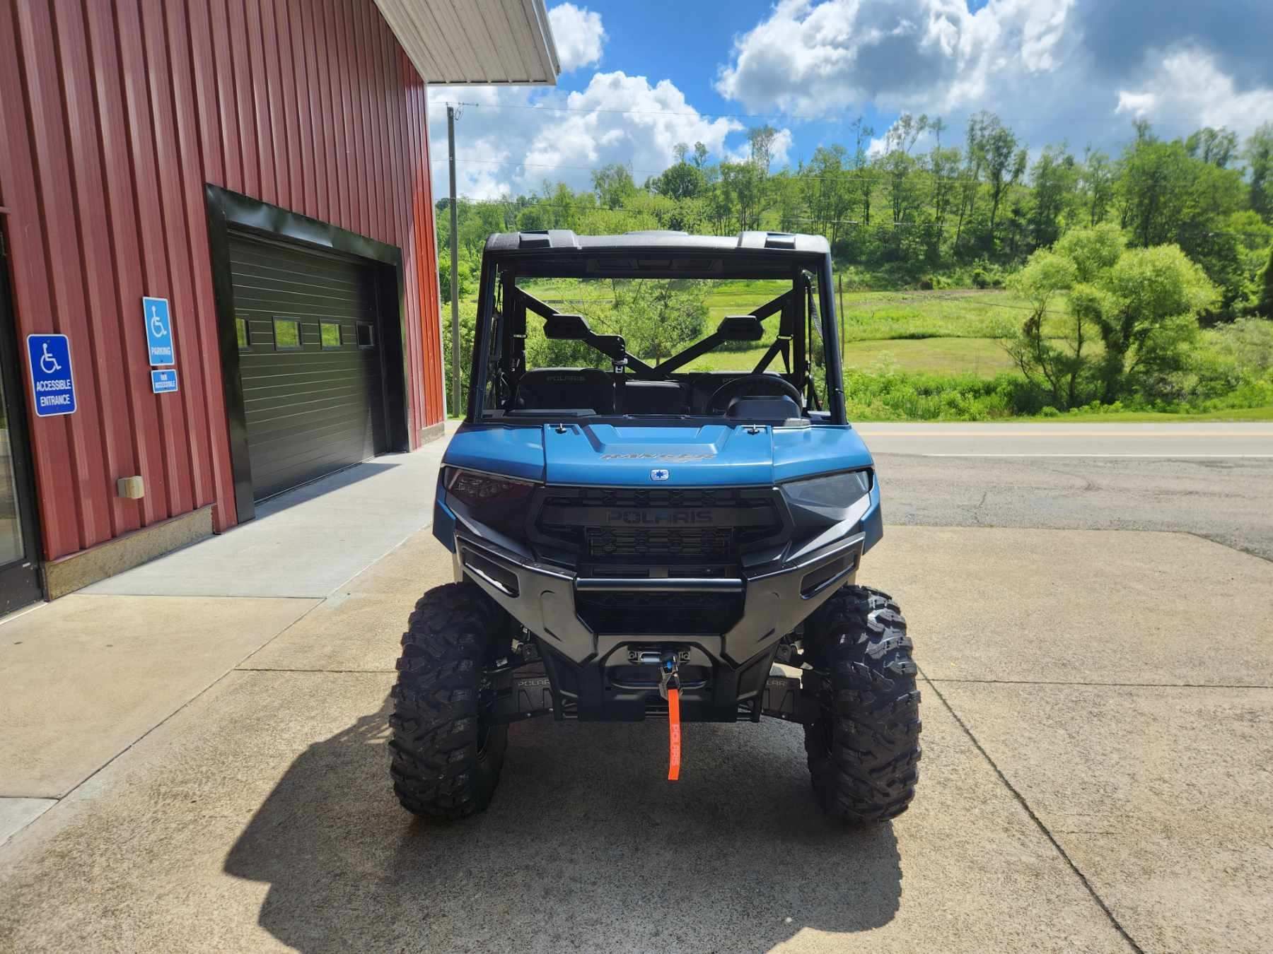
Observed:
[[[425,83],[556,85],[544,0],[376,0]]]

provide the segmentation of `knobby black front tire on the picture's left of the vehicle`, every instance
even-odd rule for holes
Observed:
[[[402,633],[390,775],[402,808],[433,818],[482,812],[499,782],[508,726],[484,669],[508,651],[508,616],[471,583],[429,590]]]

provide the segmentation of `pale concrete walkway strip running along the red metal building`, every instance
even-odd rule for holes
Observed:
[[[444,449],[331,474],[251,523],[0,622],[0,841],[313,611],[302,632],[365,625],[367,602],[341,584],[429,527]]]

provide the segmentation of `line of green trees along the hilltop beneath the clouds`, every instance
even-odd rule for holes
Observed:
[[[961,265],[1016,267],[1068,230],[1116,225],[1132,247],[1175,244],[1218,289],[1204,321],[1263,308],[1273,244],[1273,123],[1245,141],[1223,127],[1166,140],[1147,122],[1115,155],[1066,144],[1034,154],[998,116],[969,118],[962,137],[939,117],[904,113],[877,140],[862,118],[847,144],[775,170],[777,131],[747,134],[743,158],[713,162],[701,142],[638,183],[629,167],[592,172],[591,190],[545,182],[537,192],[457,204],[461,294],[476,281],[491,232],[583,234],[681,229],[820,233],[838,262],[923,281]],[[438,206],[443,294],[449,296],[448,200]]]

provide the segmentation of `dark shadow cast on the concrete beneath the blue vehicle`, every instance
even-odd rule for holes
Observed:
[[[687,725],[668,785],[661,724],[523,722],[490,809],[435,824],[393,800],[387,712],[300,753],[225,859],[298,950],[768,950],[897,911],[891,826],[820,814],[797,726]]]

